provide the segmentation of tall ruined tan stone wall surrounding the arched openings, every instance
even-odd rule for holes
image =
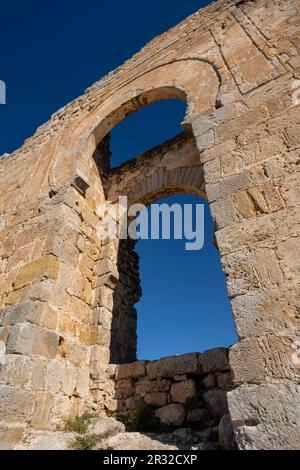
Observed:
[[[207,197],[240,340],[228,396],[238,445],[299,446],[299,34],[298,0],[215,2],[1,158],[2,433],[17,441],[26,427],[114,406],[119,243],[97,227],[103,204],[124,189],[118,178],[130,187],[127,172],[139,181],[137,200]],[[172,162],[154,157],[163,169],[148,168],[153,178],[143,158],[110,173],[110,130],[166,98],[187,102],[198,168],[179,167],[180,144]]]

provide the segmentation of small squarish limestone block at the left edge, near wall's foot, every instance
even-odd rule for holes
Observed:
[[[0,419],[8,422],[25,422],[32,416],[34,405],[33,393],[0,385]]]

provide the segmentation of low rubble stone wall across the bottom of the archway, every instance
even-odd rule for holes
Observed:
[[[152,409],[159,431],[190,428],[223,448],[235,446],[227,407],[233,389],[228,350],[121,364],[115,371],[115,399],[122,415]]]

